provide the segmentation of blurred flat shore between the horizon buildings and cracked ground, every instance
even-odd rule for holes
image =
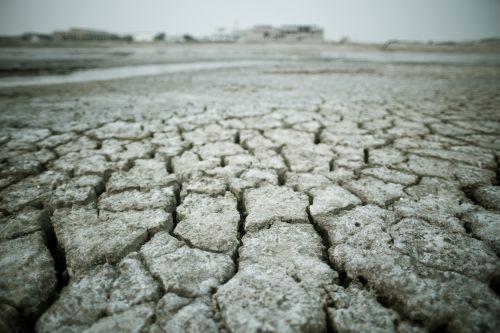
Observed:
[[[500,42],[360,43],[126,43],[40,42],[0,46],[0,77],[69,74],[78,70],[209,61],[332,59],[381,62],[455,62],[473,57],[500,63]],[[497,58],[498,57],[498,58]],[[480,62],[481,60],[479,60]],[[476,61],[477,63],[478,61]]]

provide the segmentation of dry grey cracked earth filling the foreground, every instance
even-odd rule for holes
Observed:
[[[0,90],[0,331],[498,332],[500,68]]]

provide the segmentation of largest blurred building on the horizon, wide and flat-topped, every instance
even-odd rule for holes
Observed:
[[[248,29],[239,40],[247,43],[322,42],[323,29],[314,25],[285,25],[277,28],[257,25]]]

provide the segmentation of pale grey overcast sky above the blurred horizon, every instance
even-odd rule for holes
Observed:
[[[207,35],[218,27],[316,24],[328,39],[500,37],[500,0],[0,0],[0,34],[70,27]]]

